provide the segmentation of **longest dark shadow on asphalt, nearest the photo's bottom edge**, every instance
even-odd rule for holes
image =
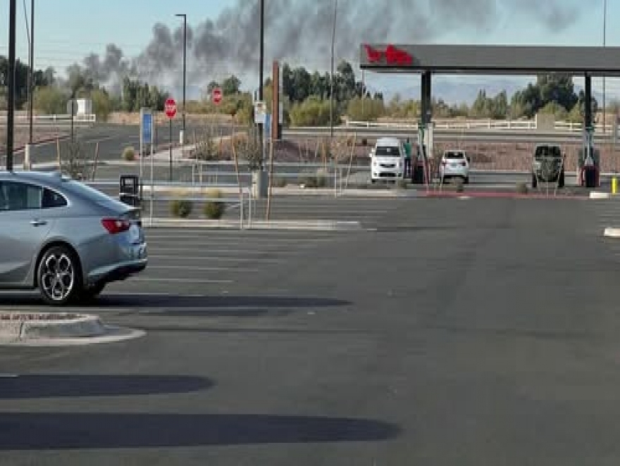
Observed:
[[[375,420],[237,414],[1,413],[0,426],[4,451],[382,441],[400,433]]]

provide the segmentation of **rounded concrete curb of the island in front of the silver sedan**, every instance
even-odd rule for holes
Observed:
[[[106,327],[97,315],[75,315],[75,317],[59,318],[56,320],[41,319],[27,320],[18,318],[25,313],[8,313],[12,319],[0,319],[0,337],[13,340],[32,339],[66,339],[66,338],[89,338],[104,336]],[[36,313],[39,315],[67,314]]]

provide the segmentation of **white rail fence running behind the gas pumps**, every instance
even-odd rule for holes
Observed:
[[[435,130],[538,130],[538,123],[534,120],[433,120]],[[366,127],[393,130],[416,130],[417,122],[375,122],[347,120],[346,127]],[[554,131],[581,132],[582,123],[556,121]],[[614,125],[607,123],[595,125],[595,133],[614,130]]]

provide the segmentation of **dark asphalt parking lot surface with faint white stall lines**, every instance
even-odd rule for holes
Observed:
[[[401,201],[377,231],[149,230],[88,309],[146,336],[1,348],[0,464],[618,464],[620,208]]]

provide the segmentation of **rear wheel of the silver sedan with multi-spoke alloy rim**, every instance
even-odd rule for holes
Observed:
[[[43,300],[55,306],[72,301],[82,289],[80,264],[66,246],[54,246],[45,251],[37,279]]]

